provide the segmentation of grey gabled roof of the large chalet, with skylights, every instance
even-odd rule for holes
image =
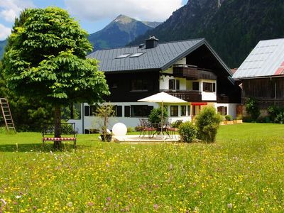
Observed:
[[[172,41],[158,43],[151,49],[138,46],[97,50],[88,55],[88,58],[99,60],[99,70],[104,72],[133,71],[133,70],[166,70],[174,62],[185,57],[201,45],[207,44],[204,38],[194,40]],[[126,53],[144,53],[139,57],[116,58]]]

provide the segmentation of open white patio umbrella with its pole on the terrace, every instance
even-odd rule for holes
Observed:
[[[187,103],[185,102],[185,100],[179,99],[165,92],[159,92],[157,94],[153,94],[149,97],[138,100],[138,102],[151,102],[151,103],[161,103],[162,104],[162,121],[161,121],[162,131],[163,131],[163,104],[164,103]]]

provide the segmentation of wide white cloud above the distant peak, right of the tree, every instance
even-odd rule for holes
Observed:
[[[165,21],[182,6],[182,0],[65,0],[65,5],[82,20],[101,21],[124,14],[141,21]]]

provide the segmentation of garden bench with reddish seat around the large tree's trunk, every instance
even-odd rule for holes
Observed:
[[[60,137],[54,137],[55,124],[45,124],[43,127],[43,145],[45,141],[73,141],[76,147],[75,123],[60,123]]]

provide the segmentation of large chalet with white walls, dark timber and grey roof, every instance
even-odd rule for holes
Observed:
[[[158,103],[137,102],[158,92],[167,92],[187,104],[167,104],[172,121],[188,121],[202,107],[212,105],[222,114],[236,116],[241,89],[234,84],[231,70],[204,39],[158,43],[151,37],[145,44],[97,50],[88,55],[99,60],[111,95],[106,102],[114,105],[113,122],[138,126]],[[82,118],[71,120],[79,132],[94,129],[95,105],[82,106]],[[111,126],[110,126],[111,128]]]

